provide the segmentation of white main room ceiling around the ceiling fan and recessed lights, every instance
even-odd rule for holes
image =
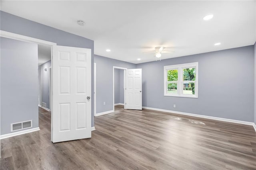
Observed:
[[[1,10],[94,40],[94,54],[144,63],[252,45],[256,1],[2,1]],[[212,20],[204,21],[207,14]],[[77,20],[84,20],[80,26]],[[220,42],[220,46],[214,43]],[[111,49],[111,52],[106,52]],[[137,59],[141,60],[138,61]]]

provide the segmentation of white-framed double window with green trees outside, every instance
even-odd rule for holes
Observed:
[[[198,63],[164,66],[164,96],[198,97]]]

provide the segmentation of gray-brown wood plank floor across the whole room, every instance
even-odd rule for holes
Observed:
[[[50,112],[40,131],[1,140],[1,170],[256,170],[256,132],[241,125],[148,109],[95,117],[91,139],[50,141]]]

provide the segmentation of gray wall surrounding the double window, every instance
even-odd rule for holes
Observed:
[[[198,98],[164,96],[164,66],[192,62],[198,62]],[[253,45],[142,63],[137,68],[143,75],[142,106],[253,122]]]

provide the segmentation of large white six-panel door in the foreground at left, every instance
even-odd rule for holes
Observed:
[[[91,49],[54,46],[52,142],[91,137]]]

